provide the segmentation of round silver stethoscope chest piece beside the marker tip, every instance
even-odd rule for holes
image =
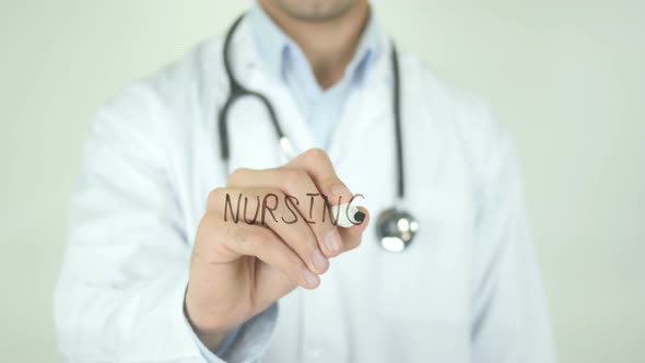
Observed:
[[[378,215],[376,226],[378,242],[385,250],[390,253],[400,253],[408,248],[418,231],[419,222],[403,210],[390,208]]]

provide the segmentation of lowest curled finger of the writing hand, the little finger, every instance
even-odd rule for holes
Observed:
[[[305,289],[315,289],[320,283],[318,276],[309,271],[304,261],[289,248],[271,230],[258,225],[236,224],[226,227],[224,246],[242,256],[255,256],[265,264],[280,270]],[[289,291],[293,284],[284,280],[271,281],[273,289]]]

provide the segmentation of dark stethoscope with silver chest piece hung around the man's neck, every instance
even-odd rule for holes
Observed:
[[[286,157],[293,159],[295,157],[295,153],[292,147],[291,141],[289,138],[282,132],[282,128],[278,122],[278,117],[275,116],[275,110],[273,106],[269,102],[269,99],[261,93],[251,91],[243,86],[239,81],[233,74],[233,70],[231,67],[231,39],[233,38],[233,34],[235,34],[235,30],[237,25],[244,19],[244,14],[239,16],[231,28],[226,33],[226,37],[224,39],[224,52],[223,52],[223,62],[224,68],[226,71],[226,77],[228,78],[228,97],[224,103],[224,106],[219,112],[218,115],[218,125],[220,131],[220,152],[222,161],[227,164],[230,159],[230,147],[228,147],[228,129],[227,129],[227,118],[228,118],[228,110],[231,106],[239,98],[245,96],[253,96],[259,99],[269,113],[269,118],[271,124],[273,124],[273,128],[275,129],[275,133],[278,134],[278,140],[280,142],[280,148]],[[386,250],[398,253],[406,249],[414,239],[414,235],[419,231],[419,222],[417,219],[412,216],[409,212],[402,209],[403,198],[404,198],[404,171],[403,171],[403,145],[401,141],[401,109],[400,109],[400,81],[399,81],[399,58],[397,56],[397,50],[392,44],[391,47],[391,68],[392,68],[392,78],[394,78],[394,89],[392,89],[392,109],[395,116],[395,138],[396,138],[396,153],[397,153],[397,202],[395,207],[389,208],[380,212],[378,219],[376,220],[376,233],[380,243],[380,246]]]

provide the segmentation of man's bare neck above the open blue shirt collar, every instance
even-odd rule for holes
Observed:
[[[341,15],[310,21],[291,16],[273,1],[259,1],[269,16],[303,50],[322,89],[329,89],[344,74],[370,16],[367,1],[356,1]]]

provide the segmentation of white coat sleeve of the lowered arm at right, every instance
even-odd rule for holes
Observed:
[[[486,114],[474,246],[476,363],[552,363],[551,329],[509,138]]]

